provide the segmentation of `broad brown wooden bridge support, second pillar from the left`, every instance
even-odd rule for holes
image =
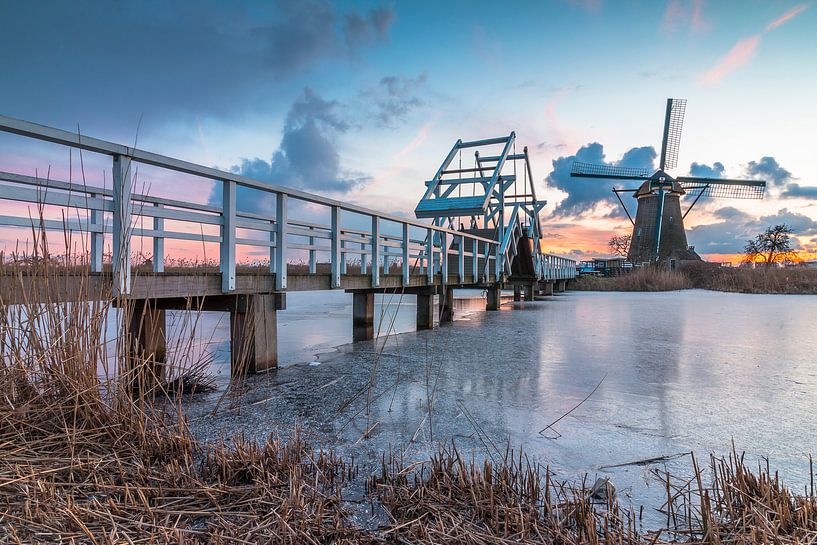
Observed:
[[[275,294],[239,296],[230,309],[230,370],[253,374],[278,367]]]

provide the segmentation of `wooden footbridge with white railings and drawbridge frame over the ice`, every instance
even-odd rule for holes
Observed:
[[[276,313],[286,308],[288,291],[352,293],[354,338],[362,340],[374,335],[375,293],[416,295],[417,328],[429,329],[435,296],[440,322],[453,319],[454,289],[486,290],[487,309],[497,310],[502,289],[513,288],[517,299],[523,294],[532,299],[536,293],[564,291],[576,275],[573,260],[541,250],[545,202],[536,198],[527,148],[515,152],[513,133],[458,141],[426,182],[415,210],[418,219],[410,220],[27,121],[0,116],[0,130],[109,158],[111,187],[0,172],[0,203],[64,211],[62,219],[32,219],[28,207],[24,215],[0,215],[0,225],[86,237],[90,273],[75,284],[61,283],[59,297],[70,301],[79,293],[97,294],[133,303],[141,309],[131,319],[139,324],[131,327],[134,343],[159,361],[165,350],[166,310],[230,312],[233,368],[240,365],[254,372],[277,365]],[[474,166],[463,167],[463,152],[471,151]],[[457,167],[452,166],[455,160]],[[194,204],[140,193],[135,165],[215,181],[220,203]],[[181,183],[194,183],[188,180]],[[269,199],[270,213],[242,210],[239,187]],[[296,208],[299,214],[291,213]],[[110,263],[103,263],[106,236]],[[132,266],[137,237],[152,240],[149,270]],[[166,271],[168,239],[217,243],[218,271]],[[269,266],[242,274],[237,260],[239,251],[247,249],[261,249],[269,256]],[[294,264],[298,260],[302,266]],[[19,278],[0,277],[0,301],[15,302]],[[238,343],[247,349],[235,350]]]

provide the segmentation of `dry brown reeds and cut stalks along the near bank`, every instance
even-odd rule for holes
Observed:
[[[583,483],[557,482],[518,451],[494,448],[477,461],[453,445],[421,464],[384,457],[364,501],[382,505],[388,521],[363,528],[353,524],[343,496],[359,478],[352,463],[297,433],[260,445],[241,437],[196,440],[182,395],[140,391],[155,383],[153,356],[131,350],[125,334],[106,338],[110,299],[65,304],[33,297],[64,281],[64,271],[42,263],[32,272],[36,281],[20,285],[32,290],[20,298],[25,304],[0,300],[0,543],[817,539],[813,484],[795,495],[768,467],[751,471],[736,454],[713,458],[706,478],[694,459],[691,479],[656,473],[667,490],[660,508],[667,524],[644,531],[609,490],[605,497]],[[113,356],[109,344],[118,345]]]

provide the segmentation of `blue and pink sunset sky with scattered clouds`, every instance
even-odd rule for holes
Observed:
[[[0,9],[2,115],[406,216],[457,139],[515,131],[549,202],[546,249],[578,258],[607,254],[630,224],[608,181],[569,177],[572,160],[653,166],[666,99],[686,98],[672,174],[768,182],[762,201],[702,199],[686,219],[690,244],[735,260],[747,239],[786,223],[801,255],[817,258],[812,2],[0,0]],[[0,135],[0,170],[110,183],[106,168]],[[151,194],[219,199],[210,182],[147,167],[139,176]],[[268,206],[239,196],[247,211]],[[19,207],[0,202],[0,214]],[[3,232],[8,247],[17,235]]]

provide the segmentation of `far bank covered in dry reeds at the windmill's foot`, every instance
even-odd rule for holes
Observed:
[[[688,267],[681,271],[653,268],[610,278],[583,276],[573,289],[583,291],[673,291],[706,289],[733,293],[817,294],[817,269]]]

